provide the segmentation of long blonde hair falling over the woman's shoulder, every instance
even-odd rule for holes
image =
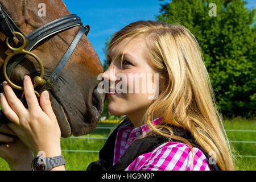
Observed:
[[[160,81],[166,84],[164,91],[148,106],[143,122],[152,132],[170,140],[181,140],[192,149],[187,139],[173,135],[170,125],[188,130],[208,154],[216,154],[221,170],[234,170],[232,150],[216,108],[208,72],[199,44],[191,32],[178,24],[138,21],[112,36],[108,52],[125,38],[146,40],[145,55],[160,73]],[[154,125],[151,122],[155,119],[153,115],[164,119]],[[163,127],[170,133],[163,133]],[[191,152],[192,169],[193,150]]]

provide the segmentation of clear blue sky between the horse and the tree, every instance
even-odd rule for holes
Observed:
[[[106,38],[131,22],[155,20],[160,4],[170,0],[63,0],[68,10],[90,25],[88,39],[103,63]],[[246,7],[256,7],[256,0],[246,0]]]

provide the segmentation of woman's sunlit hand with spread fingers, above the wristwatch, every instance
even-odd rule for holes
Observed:
[[[51,107],[49,93],[42,92],[41,108],[30,77],[24,76],[23,85],[28,109],[16,97],[9,84],[3,82],[5,93],[1,93],[0,98],[2,111],[12,121],[7,125],[34,155],[38,155],[39,151],[44,151],[47,157],[61,155],[60,127]]]

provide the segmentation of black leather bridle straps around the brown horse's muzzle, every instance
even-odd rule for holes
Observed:
[[[37,28],[36,30],[30,32],[26,36],[24,36],[23,32],[19,30],[18,26],[13,22],[10,16],[3,10],[2,6],[0,5],[0,29],[9,38],[14,38],[16,36],[14,32],[20,32],[26,40],[26,46],[23,48],[26,51],[31,51],[31,49],[38,44],[40,41],[46,39],[47,37],[57,34],[58,32],[68,30],[69,28],[80,26],[80,30],[77,32],[77,35],[73,39],[71,45],[68,47],[67,51],[64,53],[63,57],[61,58],[59,64],[52,72],[51,76],[46,81],[46,84],[42,86],[39,90],[39,94],[41,94],[44,90],[51,89],[53,83],[56,81],[57,77],[60,75],[61,70],[64,68],[65,64],[69,60],[69,57],[72,55],[73,51],[75,50],[76,46],[79,44],[82,36],[85,34],[87,35],[90,27],[89,25],[83,26],[81,19],[76,14],[70,14],[63,16],[61,18],[52,20],[44,24],[43,26]],[[17,47],[23,44],[22,39],[17,36],[19,43]],[[12,57],[11,62],[7,65],[7,76],[11,76],[13,69],[22,61],[22,59],[26,56],[26,54],[22,55],[15,55]],[[0,85],[2,88],[2,84]],[[3,90],[1,90],[3,92]],[[26,101],[24,97],[21,99],[24,105],[26,105]],[[3,123],[8,123],[9,119],[5,117],[2,111],[0,111],[0,126]]]

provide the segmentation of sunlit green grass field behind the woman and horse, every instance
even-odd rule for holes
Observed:
[[[101,122],[99,127],[114,127],[115,121]],[[256,170],[256,121],[241,118],[225,119],[224,127],[228,138],[232,141],[232,146],[236,150],[237,170]],[[249,131],[233,131],[249,130]],[[254,130],[254,131],[253,131]],[[108,137],[112,129],[96,129],[93,133],[83,137]],[[104,146],[106,139],[92,138],[62,138],[61,149],[65,157],[67,170],[86,170],[89,163],[98,160],[98,152]],[[250,141],[250,143],[241,143],[240,141]],[[253,142],[254,141],[254,142]],[[67,152],[65,150],[81,150],[87,152]],[[247,156],[247,157],[246,157]],[[251,157],[249,157],[251,156]],[[254,158],[252,157],[254,156]],[[10,170],[5,160],[0,159],[0,170]]]

